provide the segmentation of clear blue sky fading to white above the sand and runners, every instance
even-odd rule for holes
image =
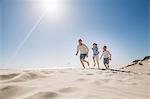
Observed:
[[[150,55],[149,0],[64,0],[23,42],[44,12],[41,1],[0,0],[0,68],[79,67],[79,38],[90,49],[107,45],[114,67]]]

